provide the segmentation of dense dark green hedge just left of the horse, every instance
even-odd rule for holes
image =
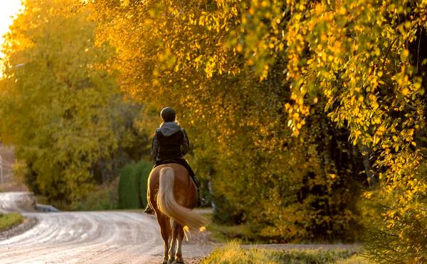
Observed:
[[[137,209],[147,205],[147,180],[151,170],[152,164],[145,160],[130,163],[120,170],[120,209]]]

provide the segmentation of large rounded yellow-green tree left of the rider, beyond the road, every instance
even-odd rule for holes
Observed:
[[[129,160],[124,153],[142,139],[132,125],[140,108],[125,104],[100,68],[114,50],[95,45],[96,24],[80,1],[23,5],[3,48],[1,138],[28,166],[33,191],[68,203]]]

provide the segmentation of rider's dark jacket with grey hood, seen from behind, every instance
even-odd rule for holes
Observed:
[[[176,122],[164,122],[156,129],[152,141],[152,159],[181,159],[189,152],[189,138]]]

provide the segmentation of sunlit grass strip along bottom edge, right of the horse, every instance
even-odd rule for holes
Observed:
[[[245,250],[236,242],[232,241],[222,248],[216,249],[207,258],[201,260],[203,264],[217,263],[253,263],[253,264],[275,264],[275,263],[337,263],[357,255],[355,251],[347,250],[292,250],[272,251],[267,249],[251,248]],[[357,263],[357,262],[356,262]]]

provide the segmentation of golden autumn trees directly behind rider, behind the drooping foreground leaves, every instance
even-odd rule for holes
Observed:
[[[355,186],[364,182],[354,177],[359,150],[334,138],[346,132],[335,130],[321,107],[313,127],[292,138],[284,111],[289,82],[281,73],[286,58],[270,65],[266,59],[270,77],[260,78],[259,58],[245,58],[243,36],[253,43],[257,35],[245,33],[241,3],[91,4],[94,19],[107,21],[98,35],[120,50],[108,65],[120,72],[120,87],[157,120],[162,106],[181,113],[199,175],[211,182],[218,219],[246,222],[274,241],[352,237]]]

